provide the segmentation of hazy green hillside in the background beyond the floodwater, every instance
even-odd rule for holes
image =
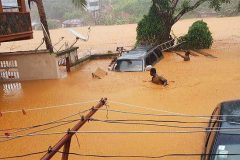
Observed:
[[[181,0],[184,1],[184,0]],[[196,0],[194,0],[196,1]],[[191,1],[190,3],[194,3]],[[87,25],[113,25],[132,24],[142,19],[147,14],[151,6],[151,0],[101,0],[102,9],[97,19],[87,11],[80,10],[66,0],[43,0],[48,19],[64,21],[67,19],[84,19]],[[185,15],[184,18],[200,18],[206,16],[235,16],[240,1],[236,0],[231,4],[222,6],[222,9],[215,12],[209,9],[209,4],[205,3],[193,12]],[[38,21],[36,6],[33,5],[31,11],[33,22]],[[50,27],[51,28],[51,27]]]

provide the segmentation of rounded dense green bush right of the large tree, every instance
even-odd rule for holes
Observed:
[[[213,43],[212,33],[202,20],[194,22],[182,40],[186,41],[184,49],[208,49]]]

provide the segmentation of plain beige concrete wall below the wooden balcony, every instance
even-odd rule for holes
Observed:
[[[0,53],[0,60],[17,60],[19,80],[57,79],[59,67],[47,51]]]

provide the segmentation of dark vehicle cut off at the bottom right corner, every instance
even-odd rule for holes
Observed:
[[[240,100],[219,104],[208,129],[201,160],[240,159]]]

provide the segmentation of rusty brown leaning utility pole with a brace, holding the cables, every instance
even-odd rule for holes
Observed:
[[[68,153],[70,150],[70,143],[72,136],[76,134],[77,132],[88,120],[105,104],[107,103],[107,99],[103,98],[100,100],[100,102],[95,106],[92,107],[90,112],[81,118],[81,120],[71,129],[69,132],[57,143],[54,147],[50,148],[48,153],[46,153],[41,160],[50,160],[63,146],[63,154],[62,154],[62,160],[68,160]]]

